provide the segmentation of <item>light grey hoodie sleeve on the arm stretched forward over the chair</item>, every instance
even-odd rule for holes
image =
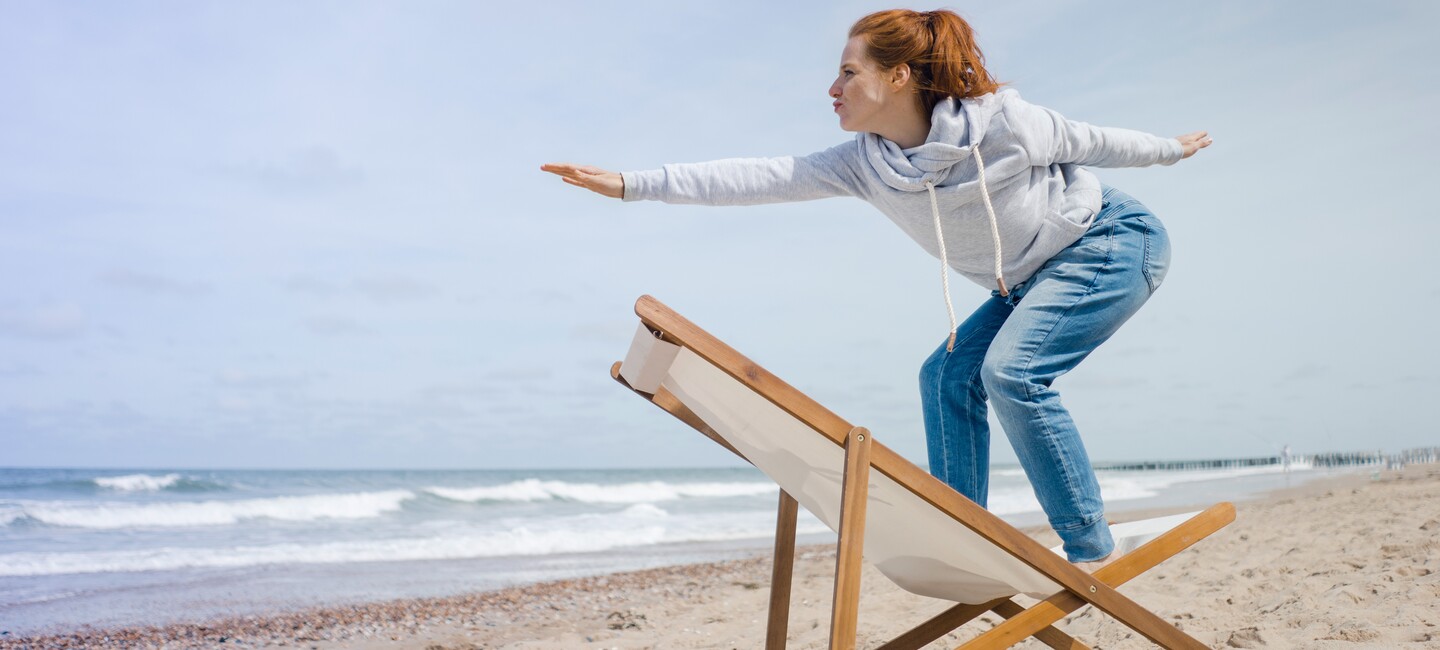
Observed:
[[[850,141],[804,157],[667,164],[621,176],[625,200],[727,206],[855,196],[854,148]]]

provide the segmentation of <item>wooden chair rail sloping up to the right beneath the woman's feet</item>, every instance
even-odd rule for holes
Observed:
[[[1161,562],[1175,556],[1181,551],[1192,546],[1195,542],[1205,539],[1215,530],[1225,527],[1230,522],[1236,520],[1236,506],[1230,503],[1218,503],[1205,509],[1205,512],[1187,519],[1179,526],[1175,526],[1158,538],[1146,542],[1143,546],[1122,555],[1115,562],[1102,566],[1094,572],[1094,578],[1110,587],[1120,587],[1129,582],[1132,578],[1155,568]],[[1030,637],[1037,630],[1044,628],[1067,615],[1070,613],[1084,607],[1086,601],[1079,598],[1076,594],[1068,591],[1061,591],[1041,602],[1031,605],[1022,614],[1009,618],[1008,621],[996,625],[995,628],[981,634],[973,638],[971,644],[965,644],[966,650],[973,649],[991,649],[991,647],[1009,647],[1020,643],[1025,637]],[[1120,621],[1125,623],[1125,621]],[[1159,641],[1156,641],[1159,643]],[[1187,647],[1187,646],[1166,646],[1159,643],[1161,647]],[[1204,647],[1204,646],[1201,646]]]

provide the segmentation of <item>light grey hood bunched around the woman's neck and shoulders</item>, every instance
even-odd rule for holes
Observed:
[[[880,180],[900,192],[924,192],[926,183],[945,187],[956,163],[972,159],[971,148],[985,138],[985,127],[1001,110],[1007,92],[972,99],[948,97],[930,112],[930,135],[924,144],[900,148],[873,133],[855,135],[861,157]],[[962,167],[969,169],[969,164]]]

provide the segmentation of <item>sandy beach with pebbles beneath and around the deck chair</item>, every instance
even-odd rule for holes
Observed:
[[[1211,647],[1440,649],[1437,497],[1434,464],[1272,493],[1238,503],[1236,523],[1120,591]],[[1034,533],[1053,543],[1053,533]],[[753,649],[763,644],[769,571],[768,558],[753,558],[203,624],[0,634],[0,649]],[[801,549],[789,647],[825,647],[832,571],[831,548]],[[948,605],[867,569],[858,647]],[[930,647],[994,623],[982,617]],[[1093,608],[1058,627],[1093,647],[1152,647]]]

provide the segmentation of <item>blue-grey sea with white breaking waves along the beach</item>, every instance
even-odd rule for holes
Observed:
[[[1332,470],[1100,470],[1109,512],[1243,500]],[[439,597],[755,556],[778,491],[744,468],[0,468],[0,638]],[[1044,517],[996,466],[989,507]],[[834,540],[802,512],[801,543]]]

